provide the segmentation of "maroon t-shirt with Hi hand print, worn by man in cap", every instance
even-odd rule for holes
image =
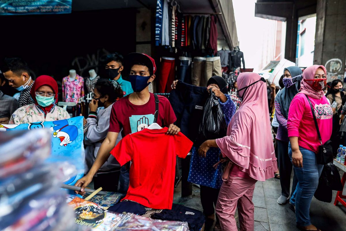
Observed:
[[[168,99],[163,96],[158,96],[158,117],[157,124],[161,127],[169,126],[176,121],[176,117],[172,106]],[[148,125],[154,122],[155,114],[155,97],[150,93],[149,101],[143,105],[134,105],[130,102],[129,96],[116,101],[111,110],[109,119],[109,132],[120,132],[122,136],[147,128]]]

